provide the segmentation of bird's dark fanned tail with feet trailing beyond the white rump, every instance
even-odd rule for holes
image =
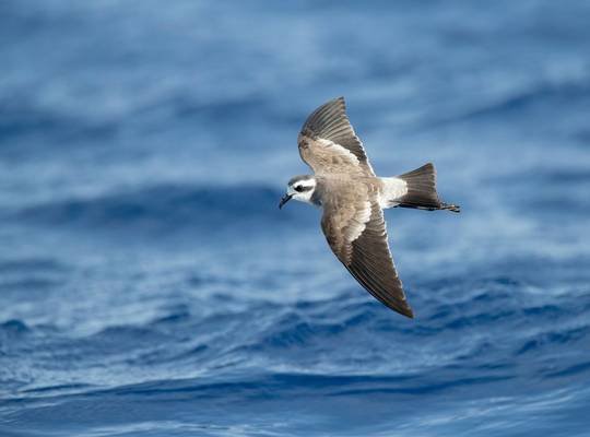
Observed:
[[[398,176],[406,184],[408,192],[397,200],[399,206],[418,210],[460,212],[459,205],[444,203],[436,192],[436,169],[432,163]]]

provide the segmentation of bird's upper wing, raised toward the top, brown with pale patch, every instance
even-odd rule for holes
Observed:
[[[297,143],[302,160],[316,174],[375,176],[363,143],[346,117],[344,97],[317,108],[305,121]]]

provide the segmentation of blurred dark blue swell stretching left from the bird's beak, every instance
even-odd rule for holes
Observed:
[[[279,211],[282,193],[266,186],[192,187],[157,185],[96,198],[51,201],[24,208],[16,220],[51,226],[83,226],[93,231],[231,232],[256,229],[294,218]],[[302,215],[306,217],[306,214]],[[302,220],[299,217],[298,220]]]

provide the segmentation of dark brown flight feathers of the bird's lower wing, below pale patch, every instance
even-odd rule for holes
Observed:
[[[349,224],[335,222],[332,220],[334,215],[326,212],[321,227],[338,259],[384,305],[413,318],[389,251],[386,223],[379,205],[376,202],[370,205],[370,218],[354,241],[346,240]]]

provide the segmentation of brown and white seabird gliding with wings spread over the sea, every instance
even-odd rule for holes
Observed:
[[[291,178],[279,209],[292,199],[319,206],[328,245],[351,275],[377,300],[414,318],[389,249],[384,209],[460,212],[459,205],[438,198],[434,165],[394,177],[376,176],[349,120],[344,97],[311,113],[297,145],[314,174]]]

